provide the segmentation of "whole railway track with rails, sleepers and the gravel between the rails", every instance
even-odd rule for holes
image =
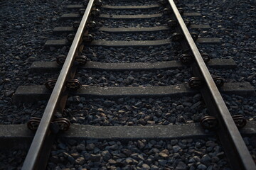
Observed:
[[[127,169],[161,169],[164,166],[167,169],[191,169],[191,167],[213,169],[214,166],[210,165],[210,161],[204,162],[210,165],[208,167],[204,164],[192,164],[194,162],[190,162],[188,166],[188,160],[171,162],[168,158],[171,159],[173,155],[171,152],[179,153],[181,147],[177,143],[188,143],[193,146],[202,142],[203,139],[208,139],[206,137],[215,138],[216,136],[225,152],[225,159],[228,159],[227,169],[228,167],[255,169],[255,162],[240,135],[240,133],[254,135],[255,123],[246,123],[242,115],[231,115],[220,96],[220,93],[253,96],[255,90],[246,82],[233,83],[221,77],[212,77],[208,68],[234,69],[236,64],[232,59],[210,59],[206,53],[198,50],[198,44],[220,43],[220,38],[203,38],[192,31],[209,29],[210,26],[192,24],[182,18],[191,16],[200,18],[201,13],[183,11],[182,8],[177,8],[178,2],[174,3],[172,0],[138,6],[130,6],[129,1],[122,3],[124,5],[119,6],[110,4],[108,1],[90,0],[68,6],[67,8],[73,10],[74,13],[64,14],[62,19],[68,23],[72,21],[73,26],[58,27],[53,30],[67,38],[48,40],[45,44],[45,47],[50,49],[70,47],[68,55],[58,56],[57,62],[33,62],[32,72],[60,72],[60,74],[58,74],[58,79],[49,79],[42,86],[19,86],[13,96],[16,103],[48,100],[41,118],[31,118],[28,121],[28,128],[36,133],[22,169],[45,169],[47,164],[48,169],[52,168],[48,163],[52,146],[58,145],[61,149],[65,149],[65,146],[60,143],[56,144],[57,137],[69,141],[69,144],[73,139],[79,139],[79,142],[74,142],[78,144],[77,150],[79,152],[88,150],[89,156],[78,157],[73,153],[73,158],[70,155],[66,157],[69,162],[81,166],[92,164],[91,162],[100,162],[103,159],[108,162],[102,165],[105,169],[124,168],[124,166]],[[127,14],[124,11],[129,12]],[[150,22],[135,27],[133,21],[136,20],[149,20]],[[113,24],[113,21],[117,24]],[[114,28],[111,27],[112,25]],[[134,52],[134,49],[138,49],[137,52]],[[142,57],[144,55],[147,56]],[[90,76],[95,72],[97,74],[95,77]],[[105,77],[96,81],[99,75],[106,74],[106,72],[110,74],[108,77],[110,81],[106,81]],[[146,79],[146,74],[150,74],[151,79]],[[171,76],[176,79],[169,79]],[[139,79],[136,80],[134,77],[139,77]],[[188,99],[184,96],[188,96]],[[189,99],[189,96],[193,98]],[[90,98],[100,99],[93,101],[94,99]],[[131,104],[129,102],[123,106],[130,98],[134,100],[133,108],[129,106]],[[143,99],[139,101],[137,98]],[[200,123],[198,120],[190,120],[190,118],[183,118],[182,114],[176,114],[181,113],[180,111],[185,108],[177,105],[173,98],[181,98],[181,101],[186,103],[187,111],[185,112],[191,113],[188,117],[200,112],[196,111],[198,106],[205,108],[203,115],[198,115]],[[98,102],[104,108],[117,105],[118,113],[112,113],[111,110],[105,112],[103,108],[95,109],[93,106],[90,109],[77,106],[76,102],[80,101],[85,104],[90,102],[91,105]],[[145,104],[146,102],[152,103],[153,107]],[[153,104],[154,102],[156,105]],[[173,104],[161,106],[161,103],[169,102]],[[146,111],[145,113],[133,111],[140,105],[151,108],[157,118],[152,117]],[[154,110],[154,107],[159,107],[159,110]],[[166,110],[161,111],[164,107]],[[175,109],[171,110],[171,108]],[[80,114],[79,120],[74,119],[72,114]],[[132,114],[137,114],[137,120],[129,118]],[[174,120],[171,121],[169,118],[171,114],[178,115],[178,118],[173,116]],[[125,115],[126,118],[118,118],[119,115]],[[11,140],[29,141],[33,136],[33,132],[26,130],[23,125],[1,125],[1,128],[4,129],[1,143],[6,142],[5,145],[16,145],[16,142],[10,142]],[[17,128],[21,132],[17,132]],[[8,130],[14,130],[14,133],[7,135]],[[197,137],[200,137],[202,141],[196,139]],[[82,140],[87,140],[86,148],[84,148],[85,141]],[[137,165],[137,168],[136,164],[139,164],[138,161],[135,162],[137,159],[118,161],[108,158],[111,157],[110,153],[104,152],[108,156],[103,156],[103,152],[97,154],[98,152],[94,150],[102,148],[101,145],[112,148],[110,150],[116,150],[114,147],[120,146],[123,149],[130,149],[132,146],[136,148],[134,149],[136,153],[138,148],[149,150],[149,145],[152,143],[155,145],[152,141],[159,140],[162,143],[159,146],[162,151],[158,153],[161,161],[151,166],[145,161]],[[210,146],[218,140],[208,140],[206,144]],[[195,148],[199,147],[193,147]],[[186,147],[182,149],[183,152],[189,150]],[[92,150],[93,152],[89,152]],[[49,160],[58,164],[53,152]],[[218,154],[218,159],[224,157],[221,150],[218,150],[216,154]],[[201,159],[203,157],[203,160],[206,159],[206,154],[199,153],[199,155]],[[154,155],[148,159],[154,159],[154,157],[159,156]],[[125,158],[125,155],[122,158]],[[124,160],[125,164],[122,163]],[[128,168],[128,165],[131,166]],[[99,169],[100,164],[92,164],[87,169],[90,167]]]

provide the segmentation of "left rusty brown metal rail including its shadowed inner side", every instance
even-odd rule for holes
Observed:
[[[59,111],[62,113],[65,102],[68,98],[68,91],[66,91],[65,82],[68,79],[73,79],[75,76],[75,67],[73,62],[75,57],[81,55],[83,42],[82,36],[85,34],[86,23],[90,18],[90,11],[92,9],[94,0],[90,0],[87,4],[85,14],[75,35],[75,38],[70,47],[70,51],[66,57],[65,63],[60,71],[55,87],[50,95],[50,99],[43,113],[43,117],[36,130],[36,135],[33,138],[31,147],[26,155],[22,170],[31,169],[46,169],[50,149],[53,145],[55,135],[50,130],[50,124],[53,120],[54,114]]]

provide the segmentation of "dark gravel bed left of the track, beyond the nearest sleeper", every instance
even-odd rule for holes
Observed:
[[[31,114],[42,113],[44,107],[41,102],[14,106],[11,96],[18,86],[44,81],[45,75],[29,72],[34,61],[54,61],[68,52],[68,47],[44,50],[43,45],[53,35],[53,28],[60,26],[64,6],[70,2],[17,0],[0,4],[0,123],[26,123]]]

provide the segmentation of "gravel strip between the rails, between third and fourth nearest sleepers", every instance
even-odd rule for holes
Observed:
[[[93,62],[161,62],[177,59],[176,53],[173,45],[139,48],[86,47],[83,50],[83,55]]]

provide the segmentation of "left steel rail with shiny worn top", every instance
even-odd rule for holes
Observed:
[[[41,152],[43,152],[43,149],[46,147],[45,142],[47,142],[49,137],[52,135],[52,133],[50,132],[50,122],[51,120],[53,120],[53,115],[55,114],[60,103],[62,102],[62,96],[65,93],[66,89],[65,81],[68,80],[69,75],[72,72],[75,57],[78,56],[80,45],[82,44],[82,35],[85,33],[85,26],[90,16],[93,2],[94,0],[90,0],[87,4],[85,14],[82,17],[82,21],[70,47],[68,56],[65,60],[65,63],[63,64],[63,68],[60,71],[60,75],[55,84],[53,92],[50,95],[50,99],[43,113],[43,117],[38,126],[38,130],[36,131],[36,135],[33,137],[31,147],[29,148],[28,154],[26,155],[26,159],[22,166],[23,170],[43,169],[43,167],[38,166],[38,164],[40,163],[40,157],[42,157]]]

